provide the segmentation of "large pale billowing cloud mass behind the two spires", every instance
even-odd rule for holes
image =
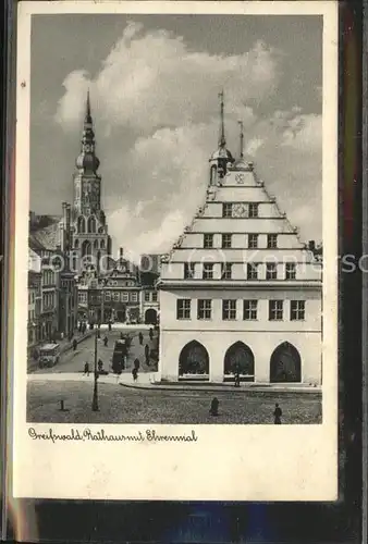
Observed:
[[[91,91],[114,247],[163,252],[191,222],[206,195],[222,87],[229,148],[237,154],[242,119],[246,156],[267,187],[303,236],[320,237],[321,118],[297,106],[263,116],[281,76],[282,55],[263,42],[242,54],[211,55],[131,22],[93,79],[86,72],[65,78],[56,114],[65,132],[81,131]]]

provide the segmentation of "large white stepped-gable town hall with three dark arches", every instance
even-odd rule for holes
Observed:
[[[161,380],[321,384],[322,264],[258,180],[219,147],[205,202],[169,255],[160,289]],[[204,181],[204,183],[206,183]]]

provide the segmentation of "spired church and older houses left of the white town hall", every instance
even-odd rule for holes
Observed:
[[[71,337],[82,320],[156,324],[160,256],[112,256],[87,97],[73,202],[61,215],[29,214],[28,348]]]

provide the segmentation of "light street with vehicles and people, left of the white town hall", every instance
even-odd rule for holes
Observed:
[[[143,345],[139,345],[138,334],[139,332],[144,335]],[[154,337],[154,342],[149,339],[149,332],[146,329],[134,329],[131,330],[128,327],[112,330],[109,332],[108,330],[101,330],[100,338],[97,341],[97,360],[101,359],[103,362],[103,370],[111,371],[111,360],[114,348],[115,341],[120,339],[120,334],[130,334],[132,337],[132,345],[130,349],[130,354],[126,361],[126,367],[123,372],[131,372],[133,368],[134,359],[139,359],[140,362],[140,372],[155,370],[155,362],[150,361],[150,367],[147,367],[145,363],[145,345],[148,344],[149,348],[156,347],[156,341]],[[108,337],[108,346],[105,347],[103,338]],[[71,373],[71,372],[82,372],[84,371],[85,363],[89,363],[89,370],[94,371],[95,364],[95,334],[89,336],[88,338],[81,342],[76,350],[70,349],[69,351],[61,355],[60,361],[58,364],[51,368],[37,368],[33,373],[34,374],[48,374],[48,373]]]

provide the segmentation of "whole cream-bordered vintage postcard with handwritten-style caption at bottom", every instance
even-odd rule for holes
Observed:
[[[20,2],[13,495],[338,494],[338,5]]]

